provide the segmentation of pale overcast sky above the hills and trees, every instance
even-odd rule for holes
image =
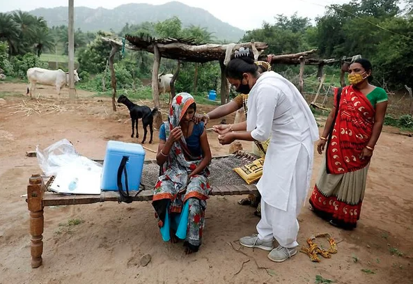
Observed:
[[[153,5],[160,5],[169,1],[75,0],[75,6],[112,9],[125,3],[151,3]],[[263,24],[263,21],[272,23],[274,22],[274,16],[278,14],[290,16],[297,12],[297,15],[300,17],[314,19],[324,13],[324,6],[332,3],[342,4],[349,1],[350,0],[180,0],[181,3],[185,3],[188,6],[208,10],[212,15],[221,19],[221,21],[227,22],[232,26],[237,26],[243,30],[258,29],[261,24]],[[0,0],[0,2],[0,12],[19,9],[29,11],[36,8],[68,6],[68,0]],[[254,7],[254,3],[258,3],[258,6]]]

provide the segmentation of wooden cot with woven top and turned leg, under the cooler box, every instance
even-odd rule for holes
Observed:
[[[240,161],[240,163],[233,165],[229,160]],[[229,195],[242,195],[242,194],[258,194],[255,184],[246,184],[241,178],[237,177],[235,182],[228,184],[227,177],[237,176],[229,168],[235,166],[241,166],[242,164],[247,164],[249,161],[256,159],[255,156],[250,155],[245,152],[237,152],[235,155],[219,156],[212,158],[212,166],[217,164],[216,171],[222,173],[226,171],[226,178],[217,178],[217,180],[226,180],[227,184],[219,184],[220,182],[211,182],[212,191],[210,196],[229,196]],[[103,163],[102,160],[95,160]],[[233,162],[232,162],[233,163]],[[145,166],[156,165],[155,160],[145,161]],[[225,165],[225,166],[223,166]],[[226,168],[227,167],[227,168]],[[217,172],[218,173],[218,172]],[[145,173],[143,173],[142,178],[144,178]],[[157,175],[157,173],[155,173]],[[214,171],[211,170],[211,176],[214,175]],[[211,177],[210,176],[210,177]],[[54,176],[46,176],[35,174],[29,178],[29,184],[27,185],[27,199],[26,203],[29,208],[30,214],[30,235],[31,235],[31,267],[36,268],[42,265],[42,252],[43,252],[43,230],[45,226],[43,209],[46,206],[59,206],[59,205],[81,205],[81,204],[91,204],[100,203],[105,201],[116,201],[120,199],[118,191],[102,191],[100,195],[86,195],[86,194],[56,194],[50,191],[49,187],[54,180]],[[137,196],[137,191],[130,191],[130,196],[133,196],[133,201],[150,201],[153,197],[153,186],[155,184],[146,184],[148,189],[139,192]]]

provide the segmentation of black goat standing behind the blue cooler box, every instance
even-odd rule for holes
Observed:
[[[146,141],[146,134],[148,133],[148,125],[149,125],[149,130],[150,130],[150,140],[149,143],[152,143],[153,140],[153,116],[155,113],[157,113],[158,109],[155,107],[152,111],[150,110],[149,107],[146,106],[138,106],[137,104],[134,104],[131,102],[125,95],[120,95],[118,98],[118,103],[120,104],[125,104],[127,109],[129,109],[130,113],[130,118],[132,119],[132,135],[131,137],[133,138],[134,136],[134,126],[135,123],[137,124],[137,138],[139,138],[139,133],[138,133],[138,120],[139,118],[142,119],[143,123],[143,140],[142,144],[145,143]]]

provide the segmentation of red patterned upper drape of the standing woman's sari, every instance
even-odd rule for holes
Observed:
[[[335,100],[337,90],[335,92]],[[353,86],[341,91],[338,113],[327,144],[327,173],[341,174],[364,168],[370,159],[361,159],[373,133],[375,109],[366,95]]]

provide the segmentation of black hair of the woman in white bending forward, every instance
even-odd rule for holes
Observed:
[[[237,56],[231,54],[231,61],[225,68],[225,76],[227,78],[242,80],[242,74],[251,73],[256,75],[258,72],[258,65],[254,63],[254,54],[249,52],[244,56]]]

